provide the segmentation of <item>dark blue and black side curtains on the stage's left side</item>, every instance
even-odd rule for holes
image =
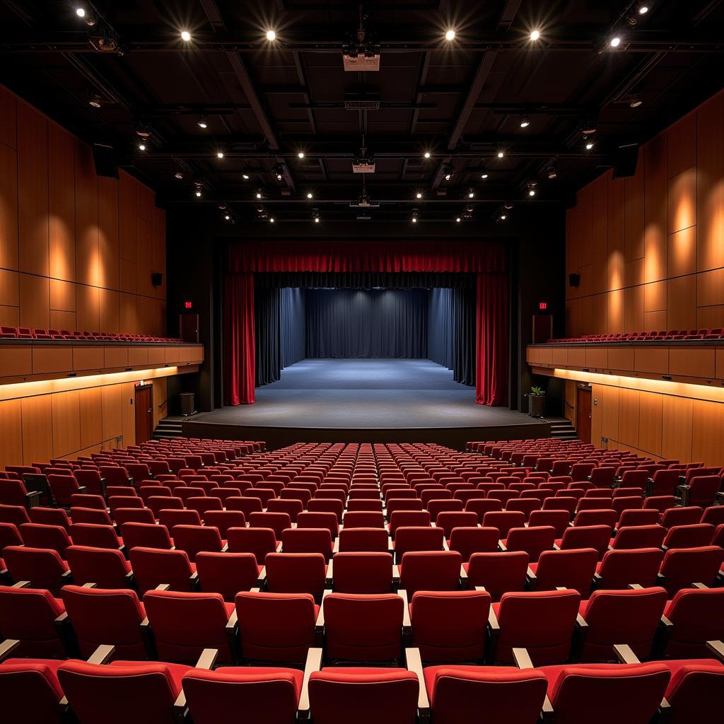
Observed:
[[[254,298],[256,386],[277,382],[282,369],[305,357],[305,292],[257,285]]]

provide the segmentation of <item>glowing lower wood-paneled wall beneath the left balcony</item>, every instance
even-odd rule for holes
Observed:
[[[167,379],[149,384],[155,427],[166,416]],[[135,382],[122,382],[1,400],[0,468],[134,445],[134,389]]]

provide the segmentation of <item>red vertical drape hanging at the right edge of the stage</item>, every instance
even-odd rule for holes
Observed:
[[[508,402],[508,280],[505,274],[478,274],[475,401]]]

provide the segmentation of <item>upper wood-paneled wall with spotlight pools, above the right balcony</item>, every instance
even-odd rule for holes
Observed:
[[[570,336],[724,326],[724,91],[607,172],[566,216]]]

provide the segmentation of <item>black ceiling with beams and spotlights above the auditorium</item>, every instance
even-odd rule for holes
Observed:
[[[619,144],[650,138],[724,85],[722,1],[657,0],[645,15],[638,5],[371,1],[363,27],[379,72],[345,72],[353,2],[0,0],[0,81],[84,140],[111,143],[168,208],[226,203],[240,221],[263,208],[266,219],[417,210],[423,222],[487,222],[505,201],[570,203]],[[89,35],[122,52],[93,49]],[[378,107],[345,108],[358,101]],[[146,151],[139,128],[151,132]],[[363,136],[374,174],[353,173]],[[350,208],[363,175],[379,206]]]

